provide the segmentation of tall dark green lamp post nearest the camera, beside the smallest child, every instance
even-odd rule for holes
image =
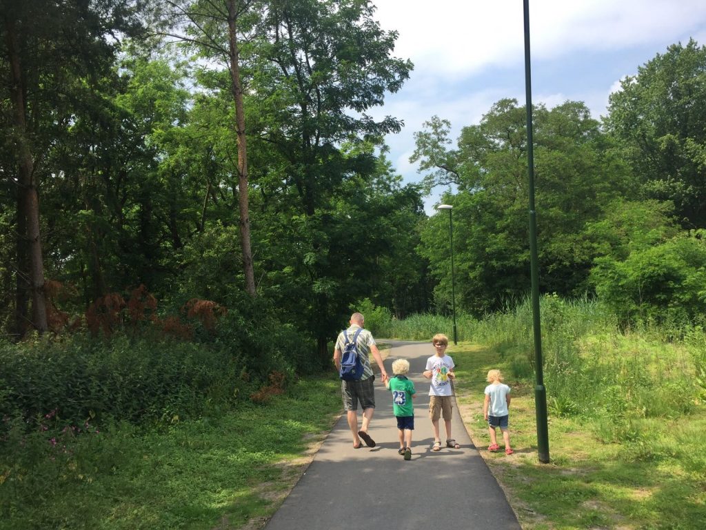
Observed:
[[[525,11],[525,89],[527,92],[527,175],[530,179],[530,276],[532,277],[532,321],[534,324],[534,408],[537,414],[539,461],[549,462],[549,428],[546,417],[546,388],[542,360],[542,326],[539,319],[539,264],[537,257],[537,211],[534,209],[534,150],[532,146],[532,74],[530,73],[530,0]]]

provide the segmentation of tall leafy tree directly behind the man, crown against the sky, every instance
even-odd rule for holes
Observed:
[[[369,112],[383,104],[385,93],[396,92],[412,69],[409,61],[393,56],[397,33],[382,30],[374,11],[366,0],[271,1],[261,25],[269,64],[251,83],[254,97],[265,100],[263,120],[251,130],[282,160],[276,177],[302,230],[298,255],[310,287],[300,299],[306,300],[304,324],[314,330],[322,358],[341,315],[361,298],[354,298],[351,279],[365,285],[377,269],[356,266],[360,276],[352,276],[352,269],[337,261],[358,245],[371,253],[359,260],[363,265],[378,245],[373,232],[363,237],[355,225],[335,220],[344,214],[343,204],[354,206],[360,225],[373,215],[358,209],[369,197],[353,182],[370,182],[376,175],[376,157],[366,146],[399,131],[402,123],[390,116],[376,120]],[[344,227],[348,231],[340,232]]]

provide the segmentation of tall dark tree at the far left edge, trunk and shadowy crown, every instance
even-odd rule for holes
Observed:
[[[18,278],[28,278],[32,324],[47,329],[44,257],[40,221],[40,175],[51,172],[41,160],[52,143],[47,129],[63,123],[57,102],[66,94],[64,81],[95,74],[112,56],[111,31],[130,33],[137,25],[133,8],[138,0],[106,0],[100,5],[82,0],[47,2],[2,0],[0,53],[6,66],[11,123],[6,129],[16,148]],[[112,37],[111,37],[112,38]],[[25,256],[27,259],[25,260]],[[25,263],[26,261],[26,263]],[[27,266],[28,269],[23,270]],[[23,281],[18,281],[18,333],[23,331]]]

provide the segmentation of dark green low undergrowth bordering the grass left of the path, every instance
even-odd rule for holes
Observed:
[[[183,341],[85,336],[3,343],[1,413],[34,423],[81,424],[107,418],[172,421],[198,416],[212,389],[228,381],[229,399],[245,387],[226,348]]]

